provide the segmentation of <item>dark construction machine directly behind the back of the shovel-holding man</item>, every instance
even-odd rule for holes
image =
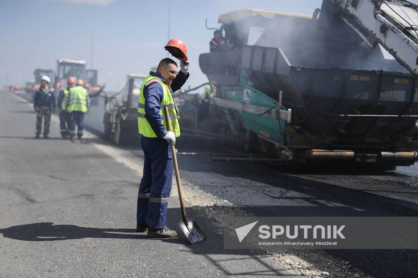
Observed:
[[[117,94],[104,97],[104,137],[113,144],[138,145],[138,100],[146,75],[130,73]]]

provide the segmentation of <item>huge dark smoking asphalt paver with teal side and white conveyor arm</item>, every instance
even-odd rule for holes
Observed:
[[[313,16],[222,14],[234,50],[201,54],[199,64],[217,88],[211,116],[229,128],[202,122],[188,133],[222,135],[282,162],[409,166],[418,159],[414,20],[417,5],[403,0],[324,0]]]

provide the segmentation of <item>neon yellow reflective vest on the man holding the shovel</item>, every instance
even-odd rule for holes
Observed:
[[[148,81],[154,79],[160,82],[161,87],[163,88],[163,101],[160,104],[160,115],[161,115],[161,121],[166,128],[167,128],[167,122],[166,122],[166,115],[164,112],[164,107],[168,107],[168,114],[170,115],[170,121],[171,121],[171,127],[174,134],[176,134],[176,137],[180,136],[180,126],[178,125],[178,120],[180,119],[180,116],[178,115],[177,106],[174,104],[173,97],[171,96],[170,89],[168,86],[158,79],[155,76],[148,75],[145,80],[142,82],[141,85],[141,91],[139,94],[139,101],[138,101],[138,131],[140,134],[142,134],[145,137],[151,137],[155,138],[157,135],[155,135],[153,129],[151,128],[150,124],[148,123],[148,120],[145,116],[145,98],[144,98],[144,88],[145,84],[148,83]]]

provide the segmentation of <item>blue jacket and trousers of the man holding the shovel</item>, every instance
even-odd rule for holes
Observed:
[[[166,81],[157,73],[150,75]],[[190,74],[185,76],[181,71],[171,82],[171,94],[186,83]],[[144,172],[138,191],[137,223],[148,224],[148,227],[162,229],[166,226],[168,197],[173,179],[173,156],[170,141],[162,137],[167,135],[160,115],[163,101],[163,88],[160,82],[151,82],[144,87],[145,115],[157,138],[142,136],[141,145],[144,151]]]

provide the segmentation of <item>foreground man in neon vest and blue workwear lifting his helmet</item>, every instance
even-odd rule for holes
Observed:
[[[173,91],[186,83],[189,61],[180,62],[181,71],[170,58],[161,60],[157,72],[150,71],[141,85],[138,104],[138,129],[142,134],[144,172],[138,191],[138,232],[148,230],[150,238],[174,238],[177,233],[166,225],[167,202],[173,177],[170,144],[180,136],[179,115]],[[168,106],[173,131],[167,131],[163,106]]]

